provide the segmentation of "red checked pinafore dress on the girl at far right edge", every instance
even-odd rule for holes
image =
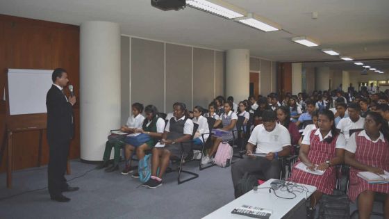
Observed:
[[[378,140],[376,143],[373,143],[371,140],[367,140],[364,136],[358,136],[358,133],[356,133],[356,161],[365,165],[380,167],[383,168],[383,170],[388,171],[388,141],[386,140],[386,142],[383,142],[382,140]],[[389,184],[368,184],[365,179],[356,176],[360,171],[361,170],[353,167],[350,168],[348,195],[351,201],[355,202],[356,197],[365,190],[389,194]]]

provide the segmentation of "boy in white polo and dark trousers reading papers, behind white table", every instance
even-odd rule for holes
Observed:
[[[279,156],[290,154],[290,134],[288,129],[276,122],[276,113],[267,110],[262,114],[263,124],[257,125],[246,145],[247,156],[231,167],[233,187],[242,179],[245,172],[260,173],[267,179],[278,179],[281,172]],[[254,156],[263,154],[263,156]],[[236,197],[236,194],[235,194]]]

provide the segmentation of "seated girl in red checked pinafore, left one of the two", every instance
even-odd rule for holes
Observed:
[[[304,136],[299,162],[303,162],[310,170],[325,170],[324,175],[292,168],[288,181],[316,186],[317,190],[311,197],[311,213],[323,194],[331,195],[335,187],[335,165],[343,163],[346,140],[342,133],[336,130],[333,113],[329,110],[319,112],[319,129],[313,129]],[[314,215],[314,213],[313,213]]]

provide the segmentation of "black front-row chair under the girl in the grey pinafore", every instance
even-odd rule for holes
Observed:
[[[193,133],[192,133],[192,137],[190,138],[190,140],[188,141],[185,141],[185,142],[181,142],[180,143],[180,146],[181,146],[181,158],[171,158],[171,160],[173,161],[179,161],[179,168],[176,169],[176,170],[167,170],[166,173],[168,172],[178,172],[178,175],[177,175],[177,184],[183,184],[185,181],[190,181],[192,179],[196,179],[197,177],[199,177],[199,175],[195,172],[190,172],[188,170],[183,170],[182,166],[183,166],[183,163],[185,162],[184,161],[184,157],[183,157],[183,154],[184,154],[184,147],[190,147],[190,151],[192,151],[192,147],[193,147],[193,136],[195,136],[195,133],[197,131],[197,129],[199,128],[199,125],[198,124],[193,124]],[[181,172],[185,172],[189,175],[192,175],[192,177],[189,177],[188,179],[184,179],[184,180],[181,180]]]

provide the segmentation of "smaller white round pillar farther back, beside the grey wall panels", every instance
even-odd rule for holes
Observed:
[[[250,51],[231,49],[226,52],[226,97],[233,96],[235,102],[249,97]]]

